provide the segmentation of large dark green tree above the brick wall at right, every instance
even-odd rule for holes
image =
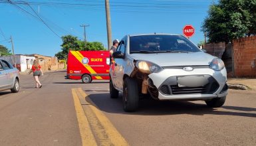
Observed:
[[[234,38],[255,35],[256,0],[220,0],[209,7],[201,31],[209,42],[229,42]]]

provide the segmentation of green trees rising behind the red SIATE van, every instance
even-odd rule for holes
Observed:
[[[78,40],[76,36],[66,35],[61,37],[61,52],[55,54],[57,58],[65,60],[69,50],[106,50],[101,42],[85,42]]]

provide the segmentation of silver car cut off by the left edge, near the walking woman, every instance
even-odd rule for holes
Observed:
[[[0,59],[0,91],[19,92],[19,70],[6,60]]]

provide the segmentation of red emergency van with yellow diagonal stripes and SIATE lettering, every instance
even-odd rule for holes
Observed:
[[[72,51],[68,52],[66,78],[82,79],[83,83],[92,80],[109,80],[109,51]]]

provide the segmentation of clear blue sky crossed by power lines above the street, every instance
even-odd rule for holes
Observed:
[[[23,1],[13,0],[11,4],[0,0],[0,44],[11,50],[9,38],[13,36],[15,54],[54,56],[61,51],[60,36],[74,35],[83,40],[82,24],[90,25],[86,27],[88,41],[107,47],[104,0]],[[112,39],[127,34],[182,34],[185,25],[193,25],[191,40],[197,44],[204,40],[201,24],[213,2],[217,1],[110,0]]]

